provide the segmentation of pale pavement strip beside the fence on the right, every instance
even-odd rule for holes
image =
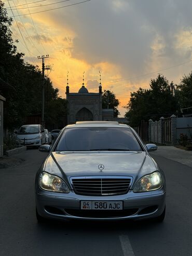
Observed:
[[[174,146],[158,146],[152,156],[162,156],[192,168],[192,151],[177,149]]]

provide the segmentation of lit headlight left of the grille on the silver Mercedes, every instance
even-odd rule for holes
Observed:
[[[70,193],[70,189],[62,179],[47,172],[42,172],[42,174],[40,174],[39,185],[43,190]]]

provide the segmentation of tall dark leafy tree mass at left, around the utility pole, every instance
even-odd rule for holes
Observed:
[[[47,88],[45,99],[51,112],[46,115],[48,123],[61,123],[61,119],[66,115],[65,100],[58,97],[59,89],[54,89],[51,81],[42,77],[38,66],[25,63],[24,53],[17,52],[11,37],[11,22],[12,19],[7,16],[0,0],[0,77],[13,86],[12,90],[4,92],[4,127],[13,130],[23,125],[28,115],[41,113],[43,83]]]

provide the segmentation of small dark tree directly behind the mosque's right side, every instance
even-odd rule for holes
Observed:
[[[103,109],[113,109],[114,117],[117,117],[120,113],[118,111],[119,100],[116,99],[113,91],[104,90],[102,95],[102,107]]]

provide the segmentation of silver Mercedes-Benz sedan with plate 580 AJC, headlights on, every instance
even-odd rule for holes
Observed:
[[[62,129],[36,174],[38,221],[45,219],[163,221],[166,181],[129,126],[77,122]]]

